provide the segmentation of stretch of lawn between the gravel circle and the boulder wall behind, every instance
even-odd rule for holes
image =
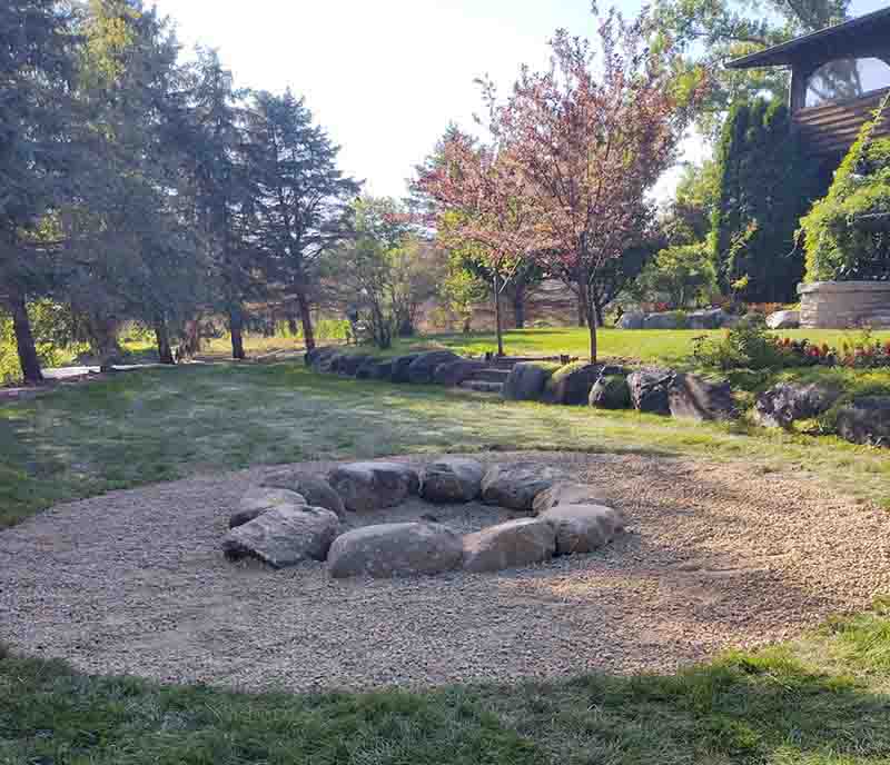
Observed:
[[[407,451],[550,448],[695,454],[811,474],[887,501],[886,451],[743,424],[504,404],[356,381],[299,362],[122,372],[0,405],[0,527],[53,503],[249,465]]]

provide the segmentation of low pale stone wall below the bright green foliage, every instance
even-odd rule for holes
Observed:
[[[814,281],[798,292],[801,327],[890,327],[890,281]]]

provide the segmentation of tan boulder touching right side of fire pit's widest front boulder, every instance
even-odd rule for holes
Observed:
[[[464,537],[464,568],[500,572],[545,563],[556,549],[553,527],[537,518],[517,518]]]

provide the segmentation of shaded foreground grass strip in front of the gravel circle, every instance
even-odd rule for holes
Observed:
[[[0,763],[878,765],[890,609],[672,676],[247,695],[0,657]]]

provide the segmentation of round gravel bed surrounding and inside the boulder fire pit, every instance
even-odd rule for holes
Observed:
[[[890,516],[824,487],[693,460],[487,458],[536,459],[595,484],[631,533],[599,554],[496,575],[332,580],[320,564],[274,572],[218,552],[244,490],[274,469],[194,478],[0,533],[0,642],[164,682],[422,687],[668,672],[890,592]],[[500,517],[467,509],[432,511],[462,530]]]

